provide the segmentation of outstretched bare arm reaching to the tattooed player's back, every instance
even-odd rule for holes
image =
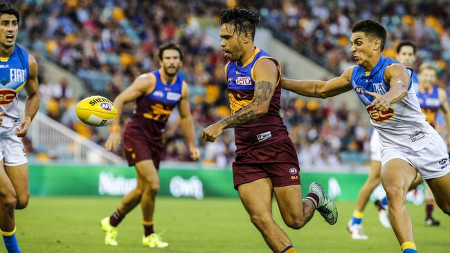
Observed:
[[[333,97],[352,89],[350,79],[354,67],[345,70],[341,76],[328,81],[282,79],[282,88],[306,97]]]

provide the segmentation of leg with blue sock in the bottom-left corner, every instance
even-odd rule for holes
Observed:
[[[15,237],[15,208],[17,205],[17,194],[14,186],[6,174],[3,159],[0,160],[0,232],[8,252],[20,252]]]

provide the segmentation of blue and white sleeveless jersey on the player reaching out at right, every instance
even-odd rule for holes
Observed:
[[[384,80],[384,71],[387,66],[397,63],[394,59],[381,56],[369,75],[364,73],[363,67],[355,66],[350,82],[370,116],[370,123],[379,132],[381,147],[418,151],[433,140],[432,133],[435,131],[420,110],[413,82],[408,86],[406,97],[391,104],[386,111],[375,110],[371,104],[374,97],[365,93],[371,91],[382,95],[388,92],[390,86]],[[413,74],[410,68],[407,70],[410,75]]]

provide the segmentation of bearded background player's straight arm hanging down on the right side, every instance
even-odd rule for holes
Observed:
[[[190,114],[189,90],[186,82],[183,82],[183,90],[181,91],[178,109],[181,118],[181,129],[183,130],[186,142],[188,142],[190,158],[197,160],[200,157],[200,149],[195,146],[194,120],[192,120],[192,115]]]

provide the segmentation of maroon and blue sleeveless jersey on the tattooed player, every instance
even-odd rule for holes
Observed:
[[[276,59],[259,48],[255,48],[251,58],[243,65],[239,62],[228,62],[226,64],[225,72],[231,113],[236,113],[255,100],[253,66],[260,59],[272,59],[280,68],[280,64]],[[281,72],[269,105],[269,111],[260,118],[235,127],[237,154],[289,138],[285,124],[280,116],[280,80]]]

